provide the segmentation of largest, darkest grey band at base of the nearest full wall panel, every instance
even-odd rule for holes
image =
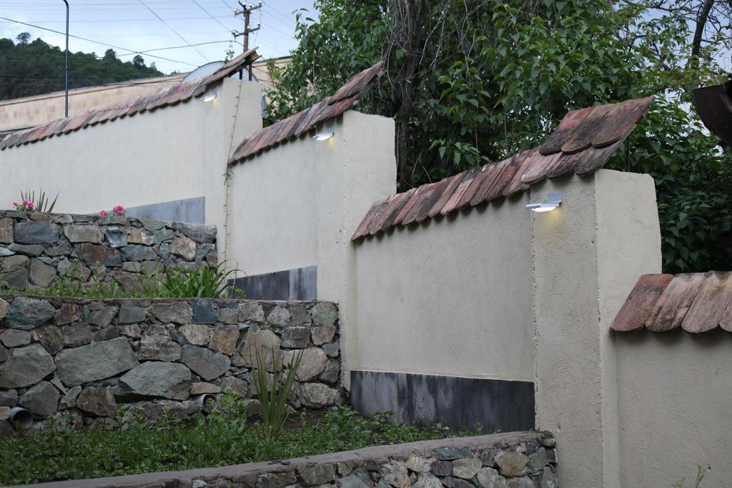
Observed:
[[[531,381],[355,370],[351,405],[365,416],[393,412],[397,423],[482,424],[488,434],[534,429]]]

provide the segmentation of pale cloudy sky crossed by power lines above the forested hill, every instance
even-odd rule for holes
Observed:
[[[71,52],[102,56],[105,50],[114,48],[120,59],[129,61],[134,56],[130,50],[155,49],[143,58],[146,64],[154,61],[165,73],[190,71],[208,61],[223,59],[231,40],[229,32],[243,29],[242,17],[234,17],[234,8],[239,9],[237,0],[69,0],[69,4],[70,34],[104,44],[70,38]],[[261,23],[261,29],[250,34],[250,46],[258,46],[258,53],[265,58],[286,56],[296,46],[293,12],[306,8],[312,16],[313,1],[269,0],[263,4],[252,13],[253,26]],[[63,0],[0,0],[0,17],[45,29],[64,31],[65,15]],[[23,31],[30,32],[33,39],[40,37],[64,48],[63,34],[0,19],[0,37],[15,40]],[[202,42],[215,43],[187,47]],[[185,47],[160,50],[178,46]],[[242,45],[234,45],[234,50],[241,53]]]

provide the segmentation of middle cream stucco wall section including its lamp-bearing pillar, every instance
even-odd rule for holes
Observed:
[[[249,275],[318,266],[318,299],[344,302],[351,234],[394,192],[394,122],[348,111],[332,126],[231,167],[228,260]]]

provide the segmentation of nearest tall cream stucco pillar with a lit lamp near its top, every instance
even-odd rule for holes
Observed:
[[[557,191],[559,209],[532,215],[537,428],[556,434],[562,487],[618,487],[609,329],[638,277],[660,271],[654,184],[600,170],[545,181],[532,194]]]

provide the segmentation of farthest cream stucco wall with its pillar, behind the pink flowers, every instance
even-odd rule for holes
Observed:
[[[0,151],[0,207],[39,188],[59,192],[56,211],[79,214],[205,197],[206,223],[221,228],[229,149],[261,128],[261,89],[228,78],[214,89],[212,102],[194,98]]]

